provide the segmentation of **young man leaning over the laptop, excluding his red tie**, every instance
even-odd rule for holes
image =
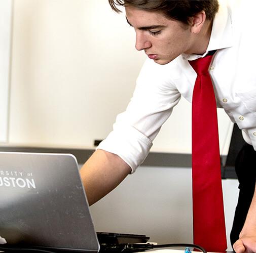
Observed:
[[[238,124],[247,143],[236,164],[240,195],[231,236],[232,243],[237,240],[235,251],[242,253],[256,251],[256,41],[251,36],[256,4],[230,2],[109,0],[117,12],[125,7],[136,32],[135,48],[148,59],[127,110],[81,177],[92,204],[133,173],[180,96],[192,102],[197,75],[188,61],[216,51],[209,71],[217,106]]]

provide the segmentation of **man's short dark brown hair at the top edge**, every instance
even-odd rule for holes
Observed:
[[[131,6],[136,9],[161,12],[167,18],[189,24],[195,14],[205,11],[206,19],[212,20],[218,11],[217,0],[108,0],[111,8],[119,13],[119,6]]]

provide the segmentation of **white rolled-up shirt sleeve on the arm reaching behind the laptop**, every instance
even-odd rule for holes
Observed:
[[[117,154],[131,167],[131,173],[135,172],[179,99],[170,65],[147,60],[126,111],[117,116],[113,131],[97,149]]]

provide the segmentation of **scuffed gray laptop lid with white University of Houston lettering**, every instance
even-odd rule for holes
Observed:
[[[73,155],[0,152],[0,236],[9,245],[99,250]]]

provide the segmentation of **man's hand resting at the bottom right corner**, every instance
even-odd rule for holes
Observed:
[[[240,239],[234,243],[233,248],[236,253],[256,252],[256,233],[252,236],[240,236]]]

